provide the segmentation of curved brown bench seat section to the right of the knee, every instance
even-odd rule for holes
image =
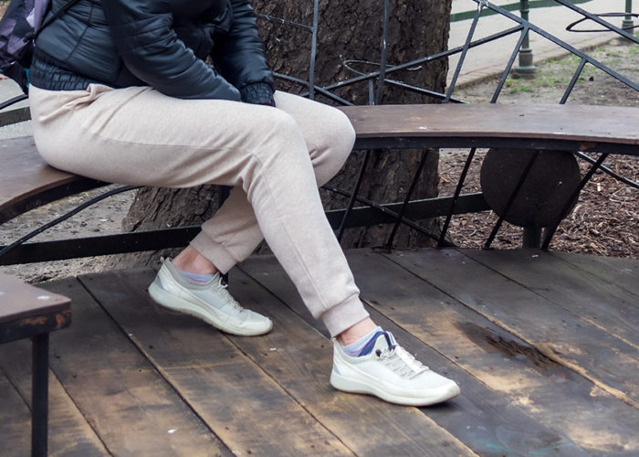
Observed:
[[[348,106],[356,147],[526,147],[639,155],[639,109],[592,105]]]

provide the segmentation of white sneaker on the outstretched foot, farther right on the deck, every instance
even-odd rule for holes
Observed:
[[[459,395],[455,381],[424,367],[389,332],[377,337],[370,354],[359,357],[348,356],[333,339],[330,385],[409,406],[433,405]]]

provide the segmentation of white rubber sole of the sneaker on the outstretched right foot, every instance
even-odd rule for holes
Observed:
[[[431,393],[420,397],[401,396],[387,392],[376,385],[361,380],[343,377],[335,371],[330,373],[330,385],[344,392],[373,395],[389,403],[403,406],[430,406],[453,399],[459,395],[459,386],[451,382],[449,386],[434,388]]]

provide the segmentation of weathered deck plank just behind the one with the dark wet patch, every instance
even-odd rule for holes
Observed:
[[[394,254],[425,281],[639,409],[639,352],[457,250]]]

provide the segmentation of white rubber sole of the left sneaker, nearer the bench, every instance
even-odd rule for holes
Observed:
[[[149,286],[149,295],[151,295],[151,298],[155,303],[158,303],[165,308],[169,308],[173,311],[177,311],[183,314],[189,314],[197,317],[198,319],[202,319],[204,322],[213,325],[218,330],[222,330],[227,334],[238,336],[266,335],[273,328],[272,322],[267,328],[259,330],[250,330],[242,327],[237,327],[233,324],[228,324],[223,318],[215,315],[213,310],[203,310],[195,303],[187,302],[186,300],[176,297],[172,293],[166,292],[164,289],[162,289],[162,286],[160,286],[156,282],[152,282]]]

